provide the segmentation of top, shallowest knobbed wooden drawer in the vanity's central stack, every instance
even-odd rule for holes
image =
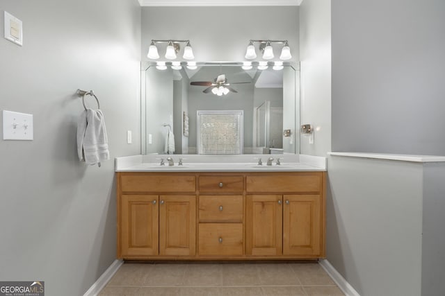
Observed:
[[[200,191],[211,193],[242,193],[243,176],[200,176]]]

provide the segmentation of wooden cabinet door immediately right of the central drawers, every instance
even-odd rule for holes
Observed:
[[[282,254],[282,195],[246,196],[246,252]]]

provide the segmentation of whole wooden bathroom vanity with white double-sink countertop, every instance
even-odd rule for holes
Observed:
[[[325,256],[323,168],[140,164],[116,171],[120,259]]]

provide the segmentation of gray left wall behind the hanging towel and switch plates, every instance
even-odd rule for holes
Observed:
[[[0,10],[1,32],[3,10],[24,26],[23,47],[0,38],[1,110],[34,123],[33,141],[0,140],[0,279],[83,295],[115,260],[113,158],[140,151],[140,7],[0,0]],[[78,88],[94,89],[104,112],[111,160],[101,168],[77,159]]]

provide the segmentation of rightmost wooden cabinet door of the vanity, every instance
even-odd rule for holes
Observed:
[[[284,195],[283,254],[321,254],[320,195]]]

